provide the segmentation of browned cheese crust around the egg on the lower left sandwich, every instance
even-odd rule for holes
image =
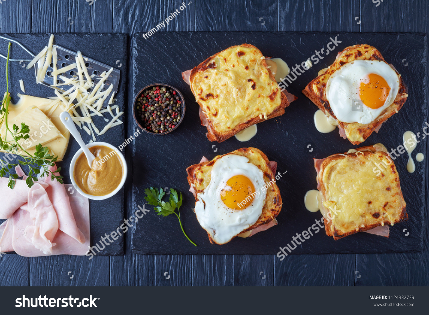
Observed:
[[[215,164],[218,159],[228,154],[236,154],[248,157],[249,162],[256,165],[263,172],[264,181],[266,184],[271,182],[273,179],[275,181],[275,174],[272,173],[268,157],[266,157],[262,151],[258,150],[257,148],[241,148],[224,155],[218,155],[211,161],[191,165],[186,169],[189,186],[195,190],[196,194],[202,192],[210,183],[211,168],[213,167],[213,164]],[[263,224],[267,224],[278,216],[281,210],[282,200],[280,196],[280,190],[274,181],[272,182],[272,185],[269,185],[268,189],[266,190],[265,204],[258,221],[256,221],[255,224],[248,229],[243,230],[242,233],[253,230]],[[195,200],[197,201],[196,195],[194,196]],[[215,244],[214,240],[211,239],[210,234],[208,234],[208,237],[210,242]]]

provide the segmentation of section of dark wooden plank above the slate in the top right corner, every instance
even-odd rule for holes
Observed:
[[[361,2],[362,32],[426,31],[426,0],[374,1]]]

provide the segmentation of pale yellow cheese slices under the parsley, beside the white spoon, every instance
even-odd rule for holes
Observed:
[[[21,122],[25,122],[25,121],[19,121],[19,119],[15,120],[15,118],[18,115],[20,115],[22,112],[26,111],[28,108],[32,106],[36,106],[50,120],[50,122],[45,121],[46,124],[48,124],[51,127],[51,130],[53,129],[52,125],[55,126],[56,130],[59,131],[61,136],[57,136],[49,141],[45,140],[45,143],[43,143],[42,140],[45,138],[43,136],[42,138],[39,138],[40,136],[39,132],[40,132],[40,126],[41,126],[40,125],[36,129],[37,135],[33,136],[33,139],[36,140],[36,142],[34,142],[34,145],[31,145],[27,149],[28,143],[25,144],[24,142],[23,148],[26,149],[26,151],[29,154],[34,154],[36,151],[34,148],[35,145],[37,145],[38,143],[42,143],[43,146],[48,147],[50,154],[58,157],[57,161],[62,161],[64,154],[66,153],[67,145],[69,143],[69,138],[70,138],[69,131],[66,129],[66,127],[64,127],[63,123],[60,121],[60,113],[63,112],[63,110],[65,109],[64,104],[62,102],[53,101],[42,97],[34,97],[29,95],[19,95],[19,96],[20,96],[20,99],[16,104],[9,103],[9,114],[8,114],[9,128],[11,128],[14,123],[12,122],[11,124],[11,121],[15,121],[15,124],[18,127],[21,127]],[[71,114],[71,111],[69,111],[69,113]],[[41,121],[41,123],[43,124],[43,121]],[[4,126],[1,126],[1,130],[3,130],[3,128]],[[45,132],[46,129],[42,127],[42,131]],[[31,127],[30,127],[30,135],[32,135],[33,132],[34,131],[31,131]],[[29,141],[33,142],[31,139],[29,139]],[[19,152],[19,154],[24,156],[26,155],[25,152]]]

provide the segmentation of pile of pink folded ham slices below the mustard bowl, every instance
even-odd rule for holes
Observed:
[[[16,168],[16,173],[26,177],[20,167]],[[80,194],[68,197],[64,185],[48,177],[35,182],[31,188],[24,180],[17,180],[17,185],[21,189],[15,191],[16,186],[9,189],[7,181],[2,182],[0,178],[0,191],[9,190],[10,200],[18,193],[24,194],[19,198],[21,206],[16,200],[15,206],[8,205],[10,215],[0,225],[0,250],[15,251],[26,257],[85,255],[90,245],[88,198]],[[14,197],[10,197],[11,193]]]

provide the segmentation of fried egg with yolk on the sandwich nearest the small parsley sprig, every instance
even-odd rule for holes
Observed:
[[[266,189],[263,172],[248,157],[227,154],[211,168],[210,183],[197,194],[199,224],[218,244],[251,227],[262,214]]]

